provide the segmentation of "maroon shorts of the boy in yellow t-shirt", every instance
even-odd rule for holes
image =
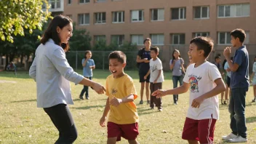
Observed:
[[[108,138],[117,137],[116,141],[120,141],[121,137],[127,140],[135,140],[139,135],[139,126],[134,124],[116,124],[108,122]]]

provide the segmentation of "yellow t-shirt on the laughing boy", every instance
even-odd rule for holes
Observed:
[[[118,79],[114,79],[113,75],[106,79],[106,95],[109,100],[113,97],[123,98],[128,95],[134,95],[137,98],[137,92],[133,80],[127,74]],[[121,103],[119,106],[110,105],[111,110],[108,116],[108,121],[116,124],[133,124],[139,121],[137,107],[134,102]]]

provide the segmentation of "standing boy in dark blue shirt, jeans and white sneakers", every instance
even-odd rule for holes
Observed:
[[[223,140],[231,143],[247,142],[245,113],[245,97],[249,88],[249,55],[244,46],[246,34],[242,29],[231,31],[231,43],[236,53],[231,62],[231,47],[224,49],[228,65],[231,69],[231,100],[228,111],[231,113],[231,134],[223,136]]]

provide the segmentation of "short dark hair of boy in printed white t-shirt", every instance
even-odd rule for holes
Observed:
[[[195,44],[197,50],[204,50],[204,57],[208,57],[213,49],[213,40],[209,37],[198,36],[191,40],[189,44]]]

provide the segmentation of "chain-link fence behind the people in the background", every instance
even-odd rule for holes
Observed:
[[[208,61],[213,62],[214,57],[218,54],[221,55],[222,60],[225,59],[223,57],[223,49],[225,47],[231,47],[228,45],[215,45],[214,50],[212,51],[212,54],[209,55]],[[185,66],[189,63],[188,60],[188,49],[189,45],[164,45],[159,47],[159,58],[161,59],[163,63],[163,67],[165,71],[169,70],[169,60],[172,59],[172,52],[175,49],[178,49],[180,51],[181,57],[183,57],[183,60],[185,62]],[[256,55],[256,44],[249,44],[247,45],[247,50],[249,52],[249,71],[252,70],[252,63],[254,60],[254,57]],[[108,69],[108,55],[111,53],[111,51],[93,51],[92,50],[92,59],[95,61],[95,65],[97,69],[106,70]],[[137,57],[137,51],[129,51],[124,53],[127,55],[127,70],[137,70],[137,63],[136,63],[136,57]],[[231,56],[233,56],[234,50],[232,51]],[[67,59],[68,63],[73,67],[74,69],[82,69],[81,60],[84,58],[84,51],[71,51],[67,52]]]

